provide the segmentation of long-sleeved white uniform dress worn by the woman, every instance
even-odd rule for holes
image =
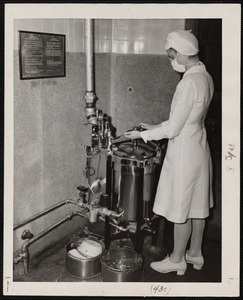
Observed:
[[[188,69],[176,87],[169,120],[141,132],[142,139],[169,139],[154,213],[171,222],[206,218],[213,206],[212,162],[204,120],[214,86],[202,63]]]

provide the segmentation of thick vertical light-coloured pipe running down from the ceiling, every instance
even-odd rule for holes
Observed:
[[[85,19],[85,58],[86,58],[86,118],[88,124],[97,125],[96,100],[94,92],[94,20]]]

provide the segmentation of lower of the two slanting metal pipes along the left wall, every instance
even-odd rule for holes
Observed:
[[[71,220],[75,216],[85,217],[85,215],[83,215],[81,212],[78,212],[78,211],[73,212],[70,215],[67,215],[65,218],[63,218],[59,222],[57,222],[54,225],[50,226],[49,228],[43,230],[42,232],[40,232],[39,234],[37,234],[36,236],[34,236],[32,239],[30,239],[27,242],[25,242],[22,245],[21,254],[19,255],[19,257],[21,257],[21,259],[19,259],[18,257],[15,258],[14,259],[14,264],[18,263],[19,261],[23,261],[23,264],[24,264],[24,274],[27,275],[29,273],[29,260],[30,260],[29,247],[32,244],[34,244],[36,241],[38,241],[39,239],[41,239],[43,236],[47,235],[48,233],[50,233],[51,231],[53,231],[54,229],[56,229],[57,227],[59,227],[63,223]]]

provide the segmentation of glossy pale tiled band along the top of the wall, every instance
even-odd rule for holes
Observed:
[[[95,52],[165,54],[168,33],[184,27],[184,19],[97,19]],[[65,34],[68,52],[84,52],[83,19],[18,19],[15,29],[15,49],[18,48],[17,31],[31,30]]]

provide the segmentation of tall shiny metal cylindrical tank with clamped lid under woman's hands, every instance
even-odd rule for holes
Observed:
[[[127,221],[151,217],[159,163],[160,149],[154,143],[134,140],[115,145],[110,164],[112,210],[124,210]]]

